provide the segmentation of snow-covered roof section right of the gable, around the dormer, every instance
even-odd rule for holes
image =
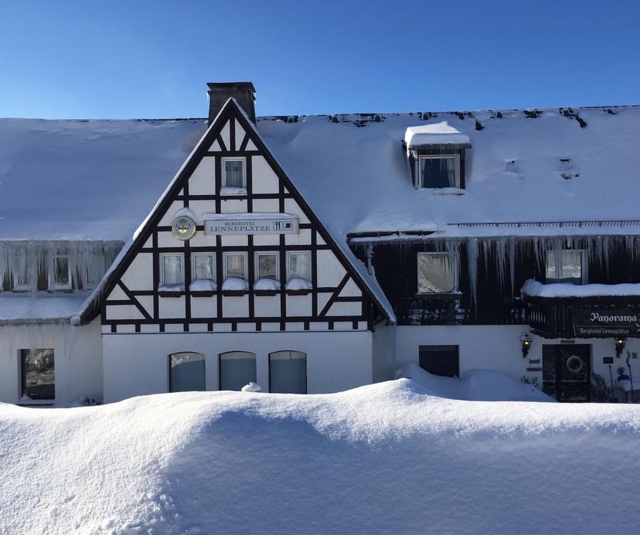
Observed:
[[[466,189],[416,190],[406,129],[443,121],[471,140]],[[258,129],[337,236],[640,233],[640,107],[307,116]]]

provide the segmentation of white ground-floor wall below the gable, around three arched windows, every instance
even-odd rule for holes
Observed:
[[[180,351],[205,355],[206,387],[217,390],[218,355],[233,350],[256,353],[257,380],[264,391],[268,391],[269,384],[268,355],[278,350],[307,354],[309,394],[342,391],[372,382],[370,332],[105,334],[105,401],[168,391],[168,355]]]

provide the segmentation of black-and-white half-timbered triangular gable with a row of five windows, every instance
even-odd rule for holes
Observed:
[[[114,271],[102,332],[366,330],[365,288],[229,100]]]

